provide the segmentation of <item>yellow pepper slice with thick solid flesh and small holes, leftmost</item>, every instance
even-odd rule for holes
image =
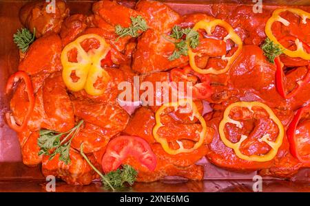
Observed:
[[[96,41],[99,41],[99,47],[85,52],[81,43],[87,39],[96,39]],[[72,49],[76,49],[77,62],[70,62],[68,59],[68,53]],[[63,65],[63,81],[68,89],[71,91],[85,89],[86,93],[90,95],[101,95],[105,91],[107,82],[110,80],[107,71],[101,67],[101,60],[107,56],[109,51],[110,45],[97,34],[85,34],[66,45],[61,52],[61,64]],[[72,79],[72,73],[75,74],[78,80],[74,81]],[[103,83],[103,87],[100,89],[96,89],[94,86],[98,79]]]

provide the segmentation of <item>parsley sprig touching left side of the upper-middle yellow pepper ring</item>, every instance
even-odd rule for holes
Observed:
[[[178,25],[175,25],[172,28],[172,34],[169,36],[172,38],[175,38],[177,40],[180,40],[185,35],[185,40],[176,41],[174,42],[174,45],[176,49],[174,49],[174,52],[171,56],[169,56],[168,60],[176,60],[177,58],[180,58],[181,55],[187,56],[188,48],[187,48],[187,41],[189,41],[189,47],[192,47],[195,49],[199,45],[199,34],[195,30],[192,30],[191,28],[182,29]]]

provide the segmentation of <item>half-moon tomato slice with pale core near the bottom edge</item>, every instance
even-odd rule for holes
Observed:
[[[103,172],[116,170],[127,157],[134,157],[150,171],[156,168],[156,156],[147,141],[141,137],[119,136],[107,144],[102,159]]]

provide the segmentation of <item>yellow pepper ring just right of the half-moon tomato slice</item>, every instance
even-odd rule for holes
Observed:
[[[169,143],[167,139],[160,137],[157,134],[158,129],[161,128],[161,126],[163,126],[163,124],[161,123],[161,114],[165,113],[165,108],[174,107],[174,111],[177,111],[178,106],[186,106],[186,105],[190,107],[189,111],[192,112],[191,118],[196,117],[199,120],[203,129],[199,133],[199,140],[196,142],[196,144],[194,144],[192,148],[189,148],[189,149],[184,148],[182,142],[177,141],[180,148],[174,150],[169,147]],[[199,148],[205,141],[205,136],[207,135],[207,124],[205,123],[205,119],[203,118],[203,116],[200,115],[198,108],[196,107],[196,104],[192,101],[192,99],[182,99],[182,100],[179,100],[178,102],[169,102],[169,103],[163,104],[160,108],[158,108],[158,111],[156,111],[155,119],[156,119],[156,125],[153,128],[154,139],[156,139],[156,141],[161,144],[165,152],[167,152],[170,155],[177,155],[178,153],[182,153],[182,152],[184,153],[193,152],[194,150]]]

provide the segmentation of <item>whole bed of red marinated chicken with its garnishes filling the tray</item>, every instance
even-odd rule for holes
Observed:
[[[21,9],[37,39],[7,85],[25,165],[72,185],[125,165],[141,182],[200,181],[205,157],[285,179],[310,167],[309,8],[284,8],[269,28],[276,7],[218,3],[182,16],[150,0],[72,15],[65,1],[54,14],[46,5]]]

